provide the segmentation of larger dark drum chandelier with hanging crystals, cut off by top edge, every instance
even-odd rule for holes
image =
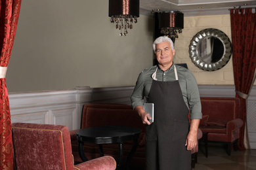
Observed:
[[[110,22],[116,23],[116,29],[119,29],[120,36],[126,36],[127,29],[133,29],[133,23],[137,23],[139,17],[139,0],[109,0],[108,16]]]

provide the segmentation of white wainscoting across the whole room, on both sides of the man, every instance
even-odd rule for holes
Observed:
[[[76,87],[70,90],[9,93],[11,121],[38,124],[61,124],[78,129],[85,103],[131,105],[134,86],[114,88]],[[199,85],[201,96],[234,97],[234,86]],[[247,104],[247,129],[251,148],[256,148],[256,86]]]

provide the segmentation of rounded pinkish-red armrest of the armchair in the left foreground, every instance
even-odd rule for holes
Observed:
[[[114,170],[116,169],[116,160],[112,156],[102,156],[93,160],[85,161],[74,165],[74,170],[77,169],[102,169],[102,170]]]

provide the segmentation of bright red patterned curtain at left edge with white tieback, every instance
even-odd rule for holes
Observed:
[[[21,0],[0,0],[0,75],[11,57],[20,3]],[[4,77],[0,78],[0,169],[13,169],[11,115]]]

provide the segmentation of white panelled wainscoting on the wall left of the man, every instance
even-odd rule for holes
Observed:
[[[131,105],[133,86],[117,88],[77,87],[71,90],[9,93],[11,121],[61,124],[78,129],[85,103]]]

